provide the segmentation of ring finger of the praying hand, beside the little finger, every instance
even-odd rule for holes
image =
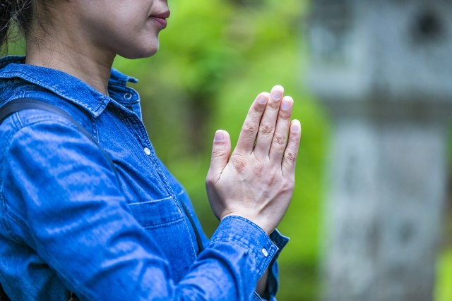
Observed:
[[[270,147],[270,159],[273,161],[283,160],[284,150],[287,145],[287,136],[289,135],[290,116],[292,116],[292,107],[294,99],[290,96],[283,98],[278,121],[276,122],[275,134]]]

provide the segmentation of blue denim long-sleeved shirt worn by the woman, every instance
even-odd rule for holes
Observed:
[[[134,78],[112,70],[109,97],[58,70],[0,59],[0,106],[32,97],[59,106],[100,142],[46,111],[0,125],[0,283],[12,300],[261,300],[254,289],[287,238],[224,219],[208,240],[189,196],[141,120]],[[119,187],[120,186],[120,187]],[[205,250],[198,254],[188,207]],[[198,254],[198,255],[197,255]]]

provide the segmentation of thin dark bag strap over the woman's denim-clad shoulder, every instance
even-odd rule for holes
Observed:
[[[77,130],[81,131],[83,135],[88,137],[89,140],[93,141],[97,147],[99,147],[102,154],[104,154],[105,158],[107,159],[110,167],[112,168],[114,172],[114,176],[116,176],[116,179],[118,181],[119,189],[121,189],[121,182],[119,182],[119,176],[116,168],[114,167],[114,164],[112,162],[112,159],[108,156],[107,152],[105,152],[105,149],[97,142],[97,140],[94,139],[93,135],[88,133],[88,130],[83,128],[83,126],[78,123],[71,115],[60,109],[58,106],[54,106],[53,104],[49,104],[48,102],[43,102],[42,100],[34,99],[34,98],[19,98],[14,99],[11,102],[8,102],[8,104],[5,104],[0,109],[0,124],[3,123],[3,121],[11,116],[13,113],[17,113],[18,111],[28,110],[28,109],[38,109],[43,111],[48,111],[52,113],[57,113],[58,115],[66,118],[67,120],[71,121],[73,125],[76,125]]]

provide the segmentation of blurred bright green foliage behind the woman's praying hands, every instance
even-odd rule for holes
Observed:
[[[302,122],[297,185],[279,229],[290,236],[280,257],[278,300],[318,300],[321,199],[328,116],[309,94],[305,0],[169,1],[172,16],[150,59],[118,58],[114,67],[140,80],[143,118],[162,161],[185,186],[207,235],[218,226],[204,180],[215,130],[237,142],[259,92],[283,85]],[[450,226],[448,226],[450,230]],[[438,261],[436,301],[452,300],[452,251]]]

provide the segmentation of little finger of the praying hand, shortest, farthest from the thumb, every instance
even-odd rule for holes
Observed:
[[[282,163],[283,176],[291,178],[295,174],[295,164],[297,163],[299,140],[302,137],[302,125],[295,120],[290,123],[289,142],[285,148],[284,158]]]

